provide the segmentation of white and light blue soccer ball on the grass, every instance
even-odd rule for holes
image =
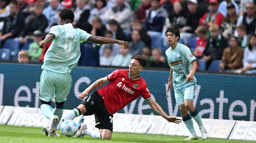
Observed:
[[[67,137],[72,137],[77,133],[77,123],[73,120],[66,120],[61,124],[61,133]]]

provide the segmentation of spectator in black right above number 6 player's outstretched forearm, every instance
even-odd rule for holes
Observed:
[[[118,22],[114,19],[109,20],[108,22],[108,30],[114,32],[114,39],[127,41],[127,37],[125,36],[123,29],[119,26]]]

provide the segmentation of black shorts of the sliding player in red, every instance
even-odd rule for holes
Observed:
[[[96,128],[108,129],[113,132],[113,115],[108,112],[98,91],[93,92],[88,98],[81,102],[86,108],[84,116],[95,116]]]

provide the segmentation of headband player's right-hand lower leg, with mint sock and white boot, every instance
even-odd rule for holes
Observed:
[[[185,107],[189,111],[190,115],[194,118],[194,120],[197,122],[199,129],[202,134],[202,139],[207,139],[208,138],[208,133],[202,123],[201,117],[199,115],[198,110],[194,107],[193,105],[193,100],[191,99],[186,99],[185,100]]]

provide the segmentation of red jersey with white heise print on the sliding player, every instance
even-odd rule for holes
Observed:
[[[131,79],[127,69],[113,71],[106,76],[106,80],[110,83],[97,91],[110,114],[124,108],[140,95],[145,100],[151,99],[145,80],[142,77]]]

